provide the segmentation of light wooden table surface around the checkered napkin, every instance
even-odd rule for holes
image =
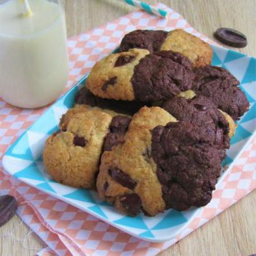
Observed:
[[[116,0],[63,2],[68,36],[105,24],[135,9]],[[154,0],[145,2],[157,3]],[[191,26],[209,38],[212,38],[212,33],[220,27],[242,31],[248,38],[248,46],[236,51],[256,56],[256,0],[161,0],[161,2],[182,14]],[[246,256],[256,253],[255,212],[256,191],[253,191],[236,205],[159,255]],[[12,231],[15,238],[6,237],[6,234]],[[44,248],[45,244],[29,231],[17,216],[0,228],[0,255],[31,256]]]

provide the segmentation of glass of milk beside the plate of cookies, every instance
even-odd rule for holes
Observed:
[[[53,102],[68,77],[65,13],[58,0],[0,0],[0,97],[20,108]]]

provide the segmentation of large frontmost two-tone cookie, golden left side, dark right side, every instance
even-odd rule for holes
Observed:
[[[144,107],[115,127],[97,178],[102,198],[128,214],[149,216],[211,200],[221,154],[202,125],[177,121],[159,107]]]

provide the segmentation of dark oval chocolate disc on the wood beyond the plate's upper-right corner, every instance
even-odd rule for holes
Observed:
[[[246,36],[235,29],[218,28],[214,33],[214,36],[223,44],[232,47],[242,48],[247,45]]]

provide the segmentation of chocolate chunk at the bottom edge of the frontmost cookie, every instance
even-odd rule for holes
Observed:
[[[141,212],[141,198],[136,193],[122,196],[120,202],[131,215],[137,215]]]

